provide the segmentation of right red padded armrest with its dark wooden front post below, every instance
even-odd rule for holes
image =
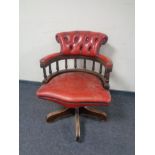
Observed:
[[[110,78],[110,72],[112,71],[112,61],[107,58],[106,56],[102,54],[98,54],[97,58],[102,62],[102,64],[105,66],[105,73],[104,73],[104,87],[106,89],[109,89],[109,78]]]

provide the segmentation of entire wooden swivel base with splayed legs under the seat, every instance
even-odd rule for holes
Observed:
[[[70,115],[75,115],[75,131],[76,131],[76,141],[80,139],[80,114],[84,116],[92,116],[97,117],[101,120],[107,119],[107,114],[105,112],[101,112],[99,110],[88,108],[88,107],[80,107],[80,108],[65,108],[56,112],[51,112],[47,115],[47,122],[53,122],[58,118],[67,117]]]

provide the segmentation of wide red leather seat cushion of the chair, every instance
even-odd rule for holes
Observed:
[[[60,74],[43,84],[37,96],[51,101],[58,101],[66,106],[69,103],[83,106],[84,103],[106,103],[111,101],[108,90],[104,89],[98,77],[84,72],[68,72]],[[83,104],[82,104],[83,103]]]

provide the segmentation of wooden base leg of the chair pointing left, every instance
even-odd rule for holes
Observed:
[[[61,109],[55,112],[51,112],[47,115],[46,117],[46,121],[48,123],[55,121],[58,118],[63,118],[69,115],[74,115],[74,109],[72,108],[65,108],[65,109]]]

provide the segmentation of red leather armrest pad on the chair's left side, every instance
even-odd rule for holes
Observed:
[[[52,53],[50,55],[43,57],[40,60],[40,67],[46,67],[50,63],[51,60],[53,60],[54,58],[56,58],[60,55],[62,55],[62,54],[61,53]]]

